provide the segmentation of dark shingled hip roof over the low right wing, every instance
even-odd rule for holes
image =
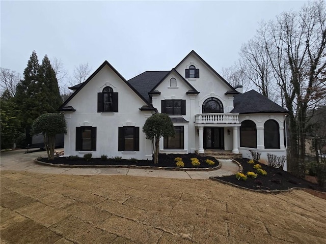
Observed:
[[[234,109],[231,113],[286,113],[287,110],[270,101],[268,98],[250,90],[247,93],[234,96]]]

